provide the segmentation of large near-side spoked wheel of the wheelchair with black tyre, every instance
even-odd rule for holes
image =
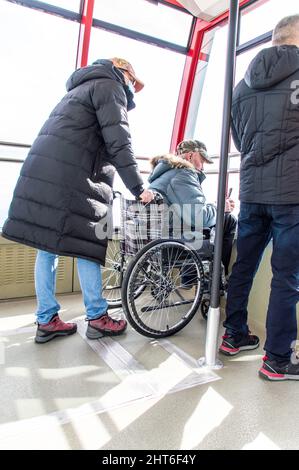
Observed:
[[[182,283],[183,276],[189,276],[187,286]],[[136,296],[138,286],[143,290]],[[126,270],[124,313],[142,335],[170,336],[193,318],[203,288],[204,272],[198,254],[180,240],[156,240],[146,245]]]

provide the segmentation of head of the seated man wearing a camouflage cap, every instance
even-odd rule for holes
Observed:
[[[183,140],[176,148],[176,155],[190,162],[199,171],[203,170],[205,163],[213,163],[207,147],[199,140]]]

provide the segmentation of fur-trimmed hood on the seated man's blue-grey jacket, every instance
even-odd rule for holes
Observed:
[[[192,170],[197,173],[200,182],[205,179],[205,175],[202,171],[197,171],[191,163],[187,162],[187,160],[183,160],[182,158],[172,154],[153,157],[150,163],[153,168],[153,171],[148,178],[150,183],[155,181],[157,178],[163,175],[163,173],[166,173],[169,170],[182,168]]]

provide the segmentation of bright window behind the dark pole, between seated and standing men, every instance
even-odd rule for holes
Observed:
[[[191,104],[187,119],[185,138],[202,140],[212,155],[219,156],[222,134],[222,113],[224,101],[224,78],[227,45],[227,24],[208,31],[203,39],[199,56]],[[260,45],[243,54],[239,54],[236,63],[236,83],[247,70],[256,54],[269,44]],[[230,152],[237,152],[231,141]],[[239,210],[239,170],[240,156],[231,156],[228,162],[228,187],[233,188],[232,198],[236,202],[235,213]],[[207,179],[203,183],[203,191],[207,202],[217,200],[219,179],[219,158],[213,165],[206,165]]]

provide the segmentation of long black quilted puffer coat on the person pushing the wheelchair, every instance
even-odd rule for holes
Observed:
[[[2,235],[104,264],[115,168],[134,195],[125,83],[111,62],[75,71],[22,166]]]

